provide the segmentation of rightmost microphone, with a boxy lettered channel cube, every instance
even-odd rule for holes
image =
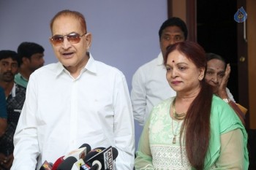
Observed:
[[[116,150],[115,147],[110,146],[107,149],[105,147],[97,147],[86,155],[84,162],[90,167],[97,164],[99,170],[113,170],[113,163],[116,160],[117,155],[118,150]]]

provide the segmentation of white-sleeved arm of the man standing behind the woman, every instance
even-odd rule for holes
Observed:
[[[146,117],[146,89],[143,85],[143,77],[140,75],[140,70],[135,72],[132,77],[131,101],[135,120],[138,121],[139,125],[144,125]]]

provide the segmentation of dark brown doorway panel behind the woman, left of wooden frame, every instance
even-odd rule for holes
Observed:
[[[221,55],[230,63],[227,88],[239,103],[236,11],[233,0],[197,0],[197,42],[206,53]]]

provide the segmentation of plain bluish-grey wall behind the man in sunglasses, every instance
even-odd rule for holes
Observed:
[[[48,38],[50,19],[62,9],[78,10],[93,35],[94,59],[116,66],[127,77],[159,53],[158,30],[167,19],[166,0],[8,0],[0,1],[0,50],[20,42],[45,47],[45,64],[56,62]],[[136,142],[141,128],[135,123]]]

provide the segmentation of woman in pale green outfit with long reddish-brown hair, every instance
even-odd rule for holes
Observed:
[[[248,169],[244,125],[204,81],[203,48],[178,42],[168,48],[165,67],[177,96],[152,109],[135,169]]]

